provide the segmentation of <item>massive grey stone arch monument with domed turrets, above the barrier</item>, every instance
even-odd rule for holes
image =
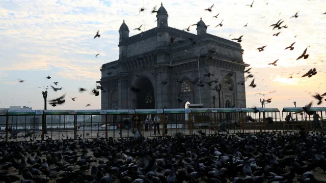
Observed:
[[[246,90],[238,83],[244,81],[243,71],[249,65],[243,63],[240,44],[207,34],[202,19],[197,35],[169,27],[162,5],[156,17],[157,27],[132,37],[123,21],[119,59],[102,66],[98,81],[104,87],[102,109],[184,108],[187,101],[199,104],[199,93],[201,103],[212,108],[212,96],[219,104],[212,89],[219,83],[221,107],[246,107]],[[207,77],[208,73],[212,75]],[[219,82],[208,84],[212,80]]]

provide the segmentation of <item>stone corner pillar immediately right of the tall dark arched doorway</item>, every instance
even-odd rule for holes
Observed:
[[[170,108],[170,96],[169,90],[174,83],[169,82],[169,68],[166,65],[156,67],[156,84],[154,90],[156,91],[155,107],[157,109],[163,109],[164,107]],[[167,80],[167,84],[162,84],[163,81]]]

